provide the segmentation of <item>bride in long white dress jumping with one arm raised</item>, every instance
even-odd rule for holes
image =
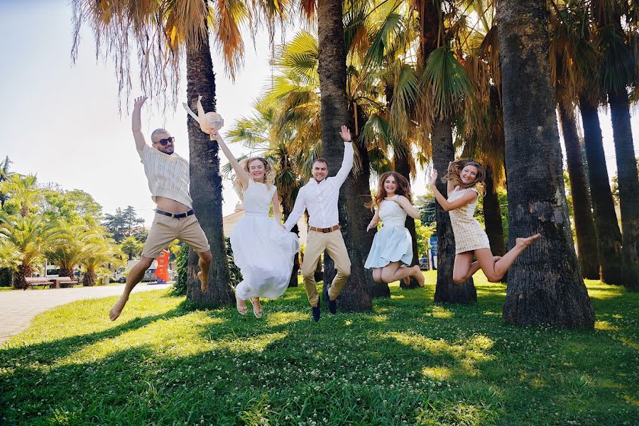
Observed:
[[[293,271],[293,256],[300,242],[293,232],[280,225],[280,200],[273,180],[275,173],[264,158],[235,159],[219,134],[212,134],[235,171],[234,185],[244,201],[244,217],[231,232],[234,263],[242,281],[235,288],[237,310],[246,315],[246,300],[253,303],[253,314],[260,318],[260,297],[274,299],[283,295]],[[268,211],[273,205],[273,217]]]

